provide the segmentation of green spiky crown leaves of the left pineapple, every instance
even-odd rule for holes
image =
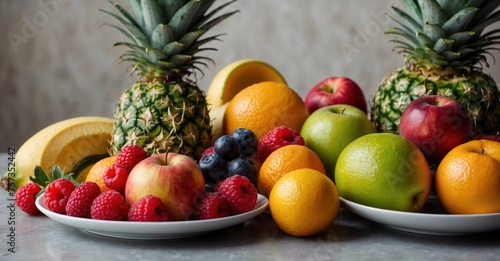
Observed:
[[[221,35],[202,38],[219,22],[238,11],[220,14],[225,7],[235,2],[214,7],[215,0],[128,0],[132,13],[118,3],[108,0],[118,14],[102,10],[115,18],[122,26],[104,23],[120,31],[130,42],[118,42],[115,46],[125,46],[129,50],[120,56],[122,62],[134,64],[133,71],[139,70],[146,78],[167,76],[182,77],[194,70],[203,71],[199,65],[207,67],[208,57],[197,56],[208,42],[218,40]]]

